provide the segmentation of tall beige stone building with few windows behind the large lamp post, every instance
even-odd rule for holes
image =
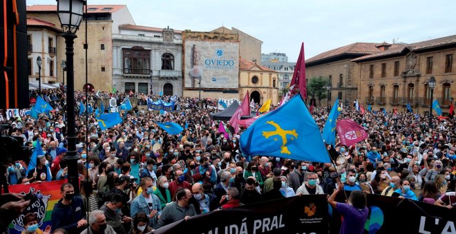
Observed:
[[[87,14],[88,87],[95,91],[111,91],[113,88],[113,34],[119,34],[119,25],[134,25],[135,21],[125,5],[88,5]],[[27,17],[53,23],[55,28],[61,28],[57,17],[57,5],[27,6]],[[74,43],[75,90],[81,90],[87,87],[85,85],[86,25],[84,21],[79,26],[76,35],[77,39]],[[57,81],[61,81],[63,78],[61,62],[66,60],[66,45],[65,39],[61,36],[57,36],[56,41],[55,72]]]

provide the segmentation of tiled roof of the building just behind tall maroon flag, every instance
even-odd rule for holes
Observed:
[[[313,56],[305,61],[305,65],[312,65],[312,63],[317,61],[323,61],[326,59],[334,58],[337,56],[347,55],[347,54],[374,54],[377,52],[381,52],[379,48],[376,47],[379,43],[363,43],[357,42],[352,43],[350,45],[345,45],[343,47],[336,48],[334,50],[329,50],[327,52],[323,52],[319,55]]]

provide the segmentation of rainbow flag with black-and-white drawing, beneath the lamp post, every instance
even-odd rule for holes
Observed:
[[[37,196],[37,201],[30,204],[17,219],[12,220],[10,226],[10,233],[21,233],[23,228],[23,217],[27,213],[37,213],[38,215],[38,228],[42,231],[46,226],[50,226],[50,217],[53,213],[54,205],[61,199],[60,187],[61,184],[68,182],[67,180],[55,180],[50,182],[42,182],[35,184],[16,184],[10,185],[8,189],[10,193],[23,193],[26,194],[32,191]]]

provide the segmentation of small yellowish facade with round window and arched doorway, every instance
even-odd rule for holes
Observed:
[[[278,72],[256,63],[240,59],[239,100],[249,91],[250,100],[262,105],[271,99],[272,105],[278,103]]]

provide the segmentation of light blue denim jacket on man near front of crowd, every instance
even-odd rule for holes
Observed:
[[[149,215],[153,210],[157,210],[157,214],[153,218],[149,218],[149,226],[152,228],[156,229],[157,228],[157,216],[162,215],[162,206],[160,205],[160,200],[158,200],[158,197],[154,194],[151,194],[152,197],[152,206],[153,209],[149,209],[149,204],[146,202],[146,198],[144,198],[144,195],[141,193],[139,196],[137,196],[133,202],[131,202],[130,206],[130,213],[131,217],[134,218],[135,215],[139,212],[144,212],[146,215]]]

